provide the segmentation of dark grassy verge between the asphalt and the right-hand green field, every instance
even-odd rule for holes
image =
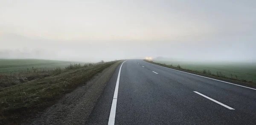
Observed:
[[[252,81],[246,81],[243,79],[236,79],[236,78],[229,78],[229,77],[225,77],[222,74],[215,75],[215,74],[211,74],[210,71],[207,71],[207,70],[203,70],[203,72],[198,72],[198,71],[194,71],[194,70],[183,69],[180,65],[178,65],[177,67],[173,67],[172,65],[160,64],[160,63],[156,63],[153,61],[147,61],[147,60],[144,60],[144,61],[151,63],[151,64],[156,64],[156,65],[168,67],[168,68],[175,69],[175,70],[180,70],[180,71],[183,71],[186,73],[192,73],[192,74],[196,74],[196,75],[200,75],[200,76],[214,78],[214,79],[218,79],[221,81],[231,82],[234,84],[241,84],[241,85],[245,85],[245,86],[249,86],[249,87],[256,87],[256,84],[253,83]]]

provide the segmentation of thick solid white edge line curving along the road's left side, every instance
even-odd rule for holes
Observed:
[[[125,63],[125,61],[122,64],[124,64],[124,63]],[[116,88],[115,88],[115,91],[114,91],[113,101],[112,101],[110,115],[109,115],[109,119],[108,119],[108,125],[115,125],[116,102],[117,102],[117,94],[118,94],[118,87],[119,87],[119,80],[120,80],[122,64],[120,66],[118,76],[117,76],[117,80],[116,80]]]

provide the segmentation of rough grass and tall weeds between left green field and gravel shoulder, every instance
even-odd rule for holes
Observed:
[[[55,104],[65,93],[85,84],[97,73],[119,61],[70,64],[64,68],[2,74],[0,76],[0,125],[18,125],[29,116]],[[23,121],[24,122],[24,121]]]

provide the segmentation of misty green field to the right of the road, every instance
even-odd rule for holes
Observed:
[[[154,60],[154,62],[173,65],[187,69],[202,72],[208,70],[217,75],[217,72],[225,77],[244,79],[246,81],[256,81],[256,63],[245,62],[189,62],[189,61],[175,61],[175,60]]]

